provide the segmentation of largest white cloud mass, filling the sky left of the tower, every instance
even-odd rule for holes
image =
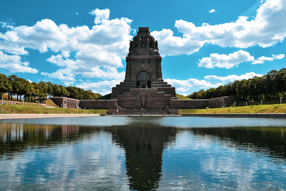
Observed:
[[[119,73],[117,68],[123,67],[122,58],[128,53],[132,20],[124,17],[109,19],[109,9],[95,9],[90,14],[95,15],[96,24],[91,29],[85,25],[57,25],[50,19],[38,21],[33,26],[6,27],[7,32],[0,33],[0,50],[2,54],[13,54],[12,57],[5,55],[18,60],[18,67],[14,67],[13,62],[7,62],[3,68],[8,68],[9,71],[38,72],[29,68],[28,63],[20,62],[20,56],[29,54],[29,49],[33,49],[41,53],[56,53],[46,61],[60,69],[51,73],[41,72],[49,78],[73,82],[77,75],[85,78],[122,78],[125,73]]]

